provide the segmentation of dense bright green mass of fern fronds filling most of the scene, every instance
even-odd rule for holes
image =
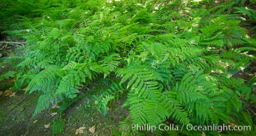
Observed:
[[[51,103],[75,100],[83,86],[111,80],[95,97],[104,116],[107,106],[126,96],[123,107],[133,124],[253,126],[244,101],[252,99],[254,78],[246,84],[235,74],[255,61],[255,40],[238,15],[253,20],[254,11],[235,4],[40,1],[36,19],[18,23],[29,31],[9,31],[28,44],[16,75],[28,83],[26,92],[42,93],[34,115]],[[52,127],[53,134],[62,133],[64,122]]]

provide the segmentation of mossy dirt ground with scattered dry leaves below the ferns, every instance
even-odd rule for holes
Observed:
[[[4,69],[10,70],[10,67]],[[54,114],[44,110],[33,117],[40,94],[28,95],[24,89],[11,92],[11,86],[13,80],[0,82],[0,135],[51,135],[49,124]],[[118,123],[128,114],[127,109],[121,108],[124,100],[114,103],[107,116],[103,116],[94,99],[86,97],[99,95],[99,90],[103,89],[99,87],[94,85],[92,90],[84,92],[83,98],[65,110],[66,127],[62,135],[75,135],[76,131],[80,131],[77,135],[112,135],[118,129]],[[91,128],[95,128],[95,131],[90,132]]]

